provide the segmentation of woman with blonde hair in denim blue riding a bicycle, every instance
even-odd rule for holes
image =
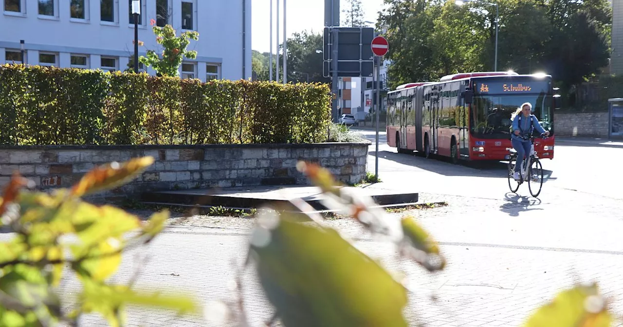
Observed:
[[[510,139],[513,148],[517,151],[517,162],[515,163],[515,173],[513,174],[513,178],[516,181],[520,179],[519,171],[521,163],[523,163],[523,157],[530,154],[530,134],[532,133],[532,128],[536,128],[540,134],[545,133],[545,136],[549,136],[549,131],[546,131],[538,119],[536,119],[536,116],[531,113],[532,105],[530,102],[526,102],[511,116],[511,120],[513,120],[513,134],[511,134]]]

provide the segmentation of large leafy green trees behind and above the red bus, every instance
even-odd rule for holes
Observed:
[[[545,71],[564,88],[607,65],[607,0],[500,0],[498,70]],[[496,7],[487,1],[384,0],[390,86],[493,70]]]

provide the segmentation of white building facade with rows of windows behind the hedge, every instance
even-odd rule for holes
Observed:
[[[0,0],[0,64],[125,70],[134,57],[131,0]],[[180,76],[238,80],[250,78],[252,0],[141,0],[138,39],[161,54],[151,23],[170,24],[179,36],[199,32],[184,58]],[[152,21],[153,20],[153,21]],[[23,40],[23,45],[21,41]],[[141,64],[142,68],[142,64]],[[143,69],[141,69],[143,70]],[[155,75],[151,67],[146,72]]]

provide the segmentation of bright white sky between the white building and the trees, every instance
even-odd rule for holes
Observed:
[[[277,0],[252,0],[251,3],[251,47],[259,52],[270,49],[270,1],[273,2],[273,53],[277,49]],[[279,40],[283,42],[283,0],[279,1]],[[361,0],[365,14],[364,21],[376,24],[378,12],[383,0]],[[340,21],[343,21],[342,9],[348,8],[346,0],[340,3]],[[321,33],[325,25],[324,0],[287,0],[286,33],[288,38],[295,32],[314,31]],[[374,27],[373,24],[369,25]]]

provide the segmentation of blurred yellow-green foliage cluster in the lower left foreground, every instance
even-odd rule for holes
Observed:
[[[151,242],[169,214],[161,211],[147,222],[117,207],[95,206],[81,197],[113,189],[135,178],[154,158],[111,163],[85,174],[70,189],[37,192],[19,174],[4,189],[0,226],[14,237],[0,242],[0,325],[77,326],[80,316],[102,315],[110,326],[125,324],[125,307],[159,307],[179,313],[198,313],[199,305],[185,295],[139,292],[108,279],[117,272],[126,249]],[[126,237],[125,234],[134,235]],[[58,287],[69,267],[82,284],[76,298],[65,298]],[[76,303],[74,310],[67,307]]]

